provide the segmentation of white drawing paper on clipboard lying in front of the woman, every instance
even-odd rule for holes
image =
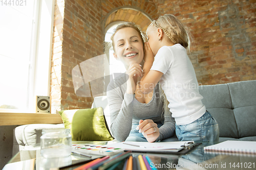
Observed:
[[[194,143],[194,141],[173,141],[173,142],[119,142],[108,144],[107,147],[122,148],[125,151],[134,152],[156,152],[156,153],[177,153],[183,149],[193,148],[201,143]]]

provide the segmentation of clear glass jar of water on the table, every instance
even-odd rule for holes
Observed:
[[[43,129],[41,155],[45,158],[67,157],[71,154],[70,129]]]

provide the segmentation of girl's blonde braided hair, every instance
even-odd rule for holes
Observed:
[[[184,48],[190,46],[190,33],[181,21],[172,14],[165,14],[154,20],[148,28],[160,28],[174,44],[181,44]]]

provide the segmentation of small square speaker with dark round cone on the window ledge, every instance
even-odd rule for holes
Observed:
[[[36,96],[36,113],[51,113],[50,96]]]

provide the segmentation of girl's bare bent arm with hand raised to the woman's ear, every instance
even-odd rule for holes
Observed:
[[[161,79],[163,73],[150,70],[154,61],[154,56],[148,42],[145,43],[143,77],[140,79],[139,88],[144,94],[150,93]]]

